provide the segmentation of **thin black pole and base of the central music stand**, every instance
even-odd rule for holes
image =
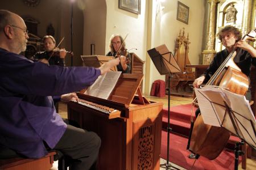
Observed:
[[[170,133],[171,133],[171,127],[170,127],[170,101],[171,101],[171,94],[170,94],[170,80],[171,80],[171,74],[168,75],[168,125],[167,125],[167,160],[165,164],[160,165],[160,167],[166,167],[166,169],[177,169],[171,165],[171,162],[169,162],[169,148],[170,148]]]

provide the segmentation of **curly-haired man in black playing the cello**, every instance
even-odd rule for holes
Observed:
[[[246,41],[241,40],[242,33],[240,29],[233,27],[232,25],[227,25],[217,33],[217,36],[225,46],[225,49],[218,52],[205,73],[195,79],[193,82],[194,88],[199,88],[200,84],[207,83],[210,77],[217,71],[218,67],[221,66],[222,62],[224,62],[225,58],[228,57],[229,53],[233,50],[236,50],[237,52],[236,57],[234,57],[234,62],[240,67],[242,73],[248,76],[248,78],[250,78],[251,64],[256,66],[256,50]],[[251,100],[250,88],[245,97],[247,100]],[[196,117],[199,113],[200,109],[197,109]],[[195,155],[190,154],[188,157],[192,159],[195,158]]]

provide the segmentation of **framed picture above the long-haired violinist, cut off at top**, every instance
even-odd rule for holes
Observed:
[[[119,8],[122,10],[141,14],[141,0],[118,0]]]

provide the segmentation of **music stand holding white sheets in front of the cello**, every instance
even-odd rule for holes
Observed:
[[[210,86],[195,89],[205,124],[223,127],[256,148],[256,121],[245,96]],[[236,145],[234,169],[238,169],[239,145]]]

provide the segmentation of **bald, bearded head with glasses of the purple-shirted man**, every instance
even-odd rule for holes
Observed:
[[[19,54],[26,50],[27,39],[24,20],[13,12],[0,10],[0,47]]]

